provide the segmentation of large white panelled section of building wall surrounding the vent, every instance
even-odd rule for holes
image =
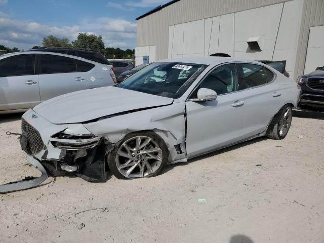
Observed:
[[[294,74],[303,0],[169,26],[169,58],[227,53],[254,60],[287,60]],[[261,51],[248,39],[260,37]],[[324,42],[323,42],[324,43]]]

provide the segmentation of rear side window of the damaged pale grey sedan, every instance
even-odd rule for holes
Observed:
[[[238,90],[244,90],[269,83],[273,73],[267,68],[250,63],[240,63],[240,75],[238,78]]]

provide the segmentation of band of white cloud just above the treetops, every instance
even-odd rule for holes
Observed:
[[[124,19],[102,17],[83,19],[79,24],[71,26],[50,26],[12,19],[0,12],[0,45],[10,48],[26,50],[42,45],[43,38],[50,34],[74,41],[81,32],[102,35],[107,47],[135,48],[136,24]]]

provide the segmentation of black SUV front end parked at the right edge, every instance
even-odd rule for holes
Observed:
[[[302,92],[300,108],[324,108],[324,66],[298,78]]]

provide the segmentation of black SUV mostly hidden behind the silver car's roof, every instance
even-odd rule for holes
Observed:
[[[28,51],[62,53],[82,57],[94,62],[99,62],[101,64],[111,65],[110,62],[100,52],[90,51],[87,49],[40,47],[37,49],[30,49]]]

